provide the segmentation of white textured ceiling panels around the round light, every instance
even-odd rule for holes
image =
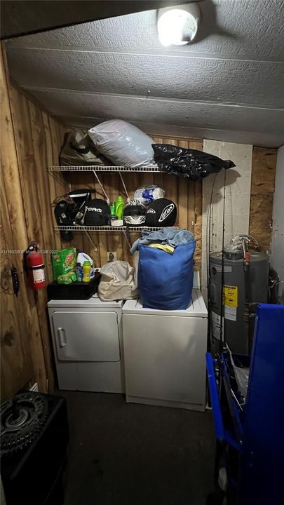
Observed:
[[[67,124],[120,118],[148,133],[284,143],[284,1],[200,1],[189,46],[164,48],[156,11],[7,44],[11,76]]]

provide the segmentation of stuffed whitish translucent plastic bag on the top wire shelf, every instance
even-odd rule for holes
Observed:
[[[100,123],[88,130],[95,147],[116,166],[155,165],[153,140],[139,128],[121,119]]]

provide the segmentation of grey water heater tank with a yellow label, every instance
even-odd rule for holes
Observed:
[[[209,257],[209,298],[213,351],[219,348],[222,290],[222,253]],[[248,269],[243,255],[224,253],[224,340],[235,354],[250,354],[255,307],[267,303],[269,257],[262,250],[250,253]]]

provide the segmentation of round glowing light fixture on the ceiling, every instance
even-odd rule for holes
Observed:
[[[158,39],[163,46],[184,46],[194,40],[201,20],[197,4],[187,4],[158,11]]]

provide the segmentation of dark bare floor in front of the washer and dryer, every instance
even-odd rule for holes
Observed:
[[[205,505],[212,491],[210,412],[62,392],[70,441],[65,505]]]

